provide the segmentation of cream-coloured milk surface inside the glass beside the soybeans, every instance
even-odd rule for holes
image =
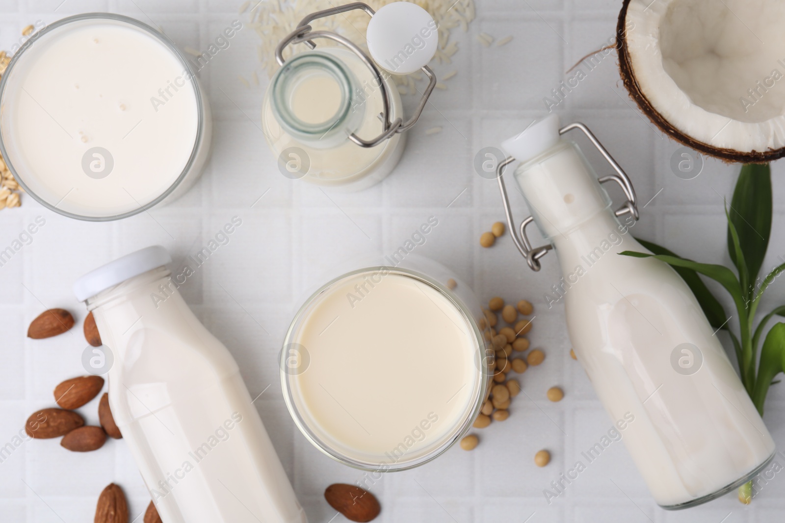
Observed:
[[[472,330],[453,303],[409,276],[338,282],[293,341],[310,358],[292,380],[294,403],[319,438],[351,458],[409,459],[473,409]]]

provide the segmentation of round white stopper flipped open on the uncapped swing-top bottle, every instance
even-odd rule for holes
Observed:
[[[439,32],[436,21],[419,5],[392,2],[371,17],[367,41],[379,67],[395,74],[409,74],[431,61]]]

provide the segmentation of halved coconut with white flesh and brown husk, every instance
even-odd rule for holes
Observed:
[[[785,2],[624,0],[624,85],[663,132],[731,162],[785,156]]]

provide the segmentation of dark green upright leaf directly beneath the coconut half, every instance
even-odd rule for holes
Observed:
[[[761,271],[772,231],[772,175],[769,164],[743,165],[733,191],[730,220],[738,231],[739,244],[747,261],[749,287],[743,292],[749,296]],[[728,227],[728,253],[733,263],[737,263],[731,236]]]

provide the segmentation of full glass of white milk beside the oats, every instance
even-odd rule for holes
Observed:
[[[33,198],[79,220],[171,202],[210,153],[210,107],[169,38],[127,16],[38,31],[0,83],[0,151]]]

